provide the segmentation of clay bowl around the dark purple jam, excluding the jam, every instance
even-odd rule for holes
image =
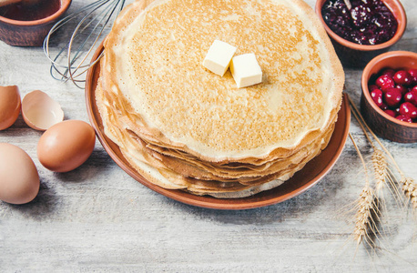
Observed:
[[[405,15],[405,11],[400,0],[382,0],[382,2],[392,11],[392,14],[398,21],[397,32],[393,35],[391,40],[385,43],[379,45],[358,45],[341,38],[339,35],[336,35],[324,22],[321,15],[321,7],[325,2],[326,0],[317,0],[315,6],[316,14],[319,15],[322,25],[324,25],[327,34],[331,37],[331,42],[337,55],[341,59],[341,64],[343,66],[366,66],[373,57],[387,52],[392,45],[397,43],[401,39],[407,25],[407,16]]]

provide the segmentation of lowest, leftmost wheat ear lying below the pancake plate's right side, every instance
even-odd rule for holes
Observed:
[[[353,236],[358,245],[364,240],[368,245],[374,247],[373,237],[377,235],[377,227],[374,217],[378,217],[378,207],[375,203],[375,195],[368,185],[363,187],[356,212],[356,225]]]

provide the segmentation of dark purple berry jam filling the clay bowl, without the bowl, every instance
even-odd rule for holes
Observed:
[[[398,22],[381,0],[327,0],[321,8],[324,22],[343,39],[359,45],[378,45],[392,38]]]

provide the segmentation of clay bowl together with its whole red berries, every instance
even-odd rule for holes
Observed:
[[[363,69],[361,89],[361,114],[376,135],[417,142],[417,53],[376,56]]]

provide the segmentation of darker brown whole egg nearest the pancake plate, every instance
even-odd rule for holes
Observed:
[[[51,126],[37,144],[39,162],[54,172],[81,166],[93,152],[96,132],[81,120],[66,120]]]

